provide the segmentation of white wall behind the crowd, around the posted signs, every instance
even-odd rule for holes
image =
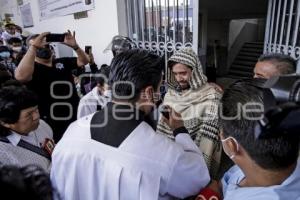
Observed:
[[[30,2],[34,27],[25,30],[31,33],[50,31],[62,33],[66,30],[74,30],[76,39],[81,48],[85,45],[93,46],[96,63],[110,64],[111,52],[103,53],[112,37],[119,33],[116,0],[95,0],[95,9],[88,11],[88,18],[75,20],[73,15],[55,17],[40,21],[38,0],[23,0],[24,4]],[[4,13],[14,14],[14,22],[23,27],[20,12],[16,0],[0,0],[0,14],[3,19]]]

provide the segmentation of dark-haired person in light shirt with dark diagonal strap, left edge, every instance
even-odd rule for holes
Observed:
[[[36,164],[49,171],[54,148],[52,129],[40,120],[37,96],[11,83],[0,89],[0,162]]]

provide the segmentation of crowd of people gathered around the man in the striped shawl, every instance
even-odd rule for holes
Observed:
[[[240,113],[296,72],[293,58],[262,55],[252,79],[221,88],[189,47],[164,79],[164,59],[126,37],[97,66],[75,32],[61,43],[77,56],[63,58],[49,32],[21,33],[7,23],[0,46],[0,188],[13,199],[300,200],[300,135],[258,139],[264,109]]]

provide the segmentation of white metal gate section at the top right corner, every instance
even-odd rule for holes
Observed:
[[[299,60],[299,21],[300,0],[269,0],[264,52],[284,53]]]

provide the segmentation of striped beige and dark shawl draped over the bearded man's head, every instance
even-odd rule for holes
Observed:
[[[168,60],[171,61],[192,68],[190,87],[184,93],[178,91],[178,83],[170,72],[167,80],[169,89],[163,104],[181,114],[185,127],[204,155],[211,177],[217,179],[222,154],[218,119],[222,93],[207,83],[201,63],[192,48],[182,48],[175,52]],[[170,127],[163,120],[158,122],[157,131],[174,139]]]

